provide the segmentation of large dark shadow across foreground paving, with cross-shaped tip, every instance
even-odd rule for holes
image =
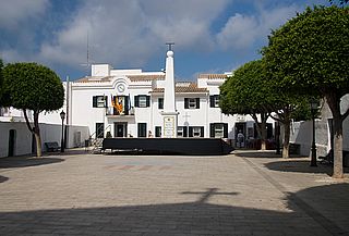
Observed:
[[[219,189],[207,190],[208,194],[204,194],[213,197],[212,194],[218,194]],[[287,197],[290,210],[266,210],[263,206],[248,208],[213,204],[198,198],[195,202],[183,203],[0,212],[0,234],[344,235],[348,233],[349,226],[341,225],[341,222],[340,226],[335,224],[334,222],[338,222],[336,215],[329,218],[326,210],[328,201],[336,200],[340,194],[345,194],[348,199],[348,192],[347,184],[309,188]],[[237,194],[228,192],[228,196],[233,198]],[[329,198],[321,198],[322,194]],[[315,210],[317,208],[308,203],[308,199],[314,196],[317,196],[316,200],[320,200],[318,204],[324,211],[318,212]],[[336,207],[344,213],[342,221],[348,216],[348,208],[346,201]]]

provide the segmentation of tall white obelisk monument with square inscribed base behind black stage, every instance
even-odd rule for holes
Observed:
[[[176,110],[176,97],[174,97],[174,67],[173,67],[173,51],[172,42],[167,44],[169,50],[166,58],[166,74],[165,74],[165,91],[164,91],[164,111],[163,115],[163,138],[176,138],[177,137],[177,122],[178,112]]]

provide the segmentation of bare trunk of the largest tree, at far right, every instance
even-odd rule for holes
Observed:
[[[342,122],[334,116],[334,178],[344,177],[342,169]]]

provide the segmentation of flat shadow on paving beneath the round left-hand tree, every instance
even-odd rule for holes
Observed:
[[[64,161],[60,158],[36,158],[36,157],[10,157],[0,158],[0,169],[27,167],[44,164],[53,164]]]

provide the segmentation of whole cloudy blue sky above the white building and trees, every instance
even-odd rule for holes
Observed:
[[[35,61],[64,80],[91,63],[159,71],[174,41],[178,80],[258,59],[270,29],[327,0],[0,0],[0,58]],[[89,73],[89,71],[88,71]]]

